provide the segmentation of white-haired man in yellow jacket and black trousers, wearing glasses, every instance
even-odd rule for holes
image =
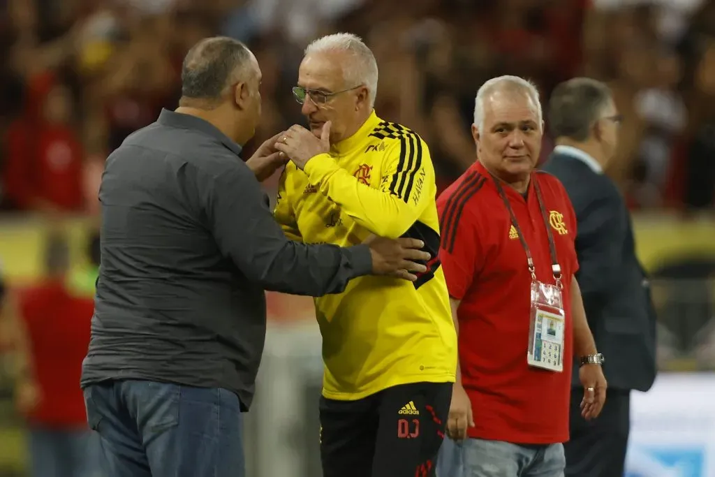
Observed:
[[[431,256],[412,282],[363,277],[315,299],[325,477],[433,475],[457,365],[430,152],[418,134],[375,114],[377,83],[375,57],[357,36],[313,41],[293,88],[310,130],[293,126],[275,145],[291,159],[275,209],[288,237],[336,245],[414,237]]]

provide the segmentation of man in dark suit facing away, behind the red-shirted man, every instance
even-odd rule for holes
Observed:
[[[631,390],[649,390],[656,376],[649,285],[636,258],[626,204],[603,174],[616,151],[621,119],[608,87],[593,79],[558,85],[549,103],[557,145],[544,169],[563,182],[576,211],[578,284],[608,380],[606,405],[598,419],[587,422],[579,408],[579,367],[573,368],[566,476],[623,476]]]

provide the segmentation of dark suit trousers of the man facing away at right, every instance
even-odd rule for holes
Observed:
[[[571,438],[563,444],[567,477],[623,477],[631,428],[631,391],[609,389],[598,418],[581,417],[583,388],[571,393]]]

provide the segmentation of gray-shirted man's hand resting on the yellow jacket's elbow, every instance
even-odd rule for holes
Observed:
[[[373,256],[373,275],[388,275],[415,281],[415,273],[427,271],[422,263],[430,260],[429,252],[423,252],[425,244],[422,240],[413,238],[398,238],[396,240],[371,235],[365,240]]]

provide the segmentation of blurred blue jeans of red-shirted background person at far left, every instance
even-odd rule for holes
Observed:
[[[92,431],[28,428],[32,477],[98,477],[98,438]]]

